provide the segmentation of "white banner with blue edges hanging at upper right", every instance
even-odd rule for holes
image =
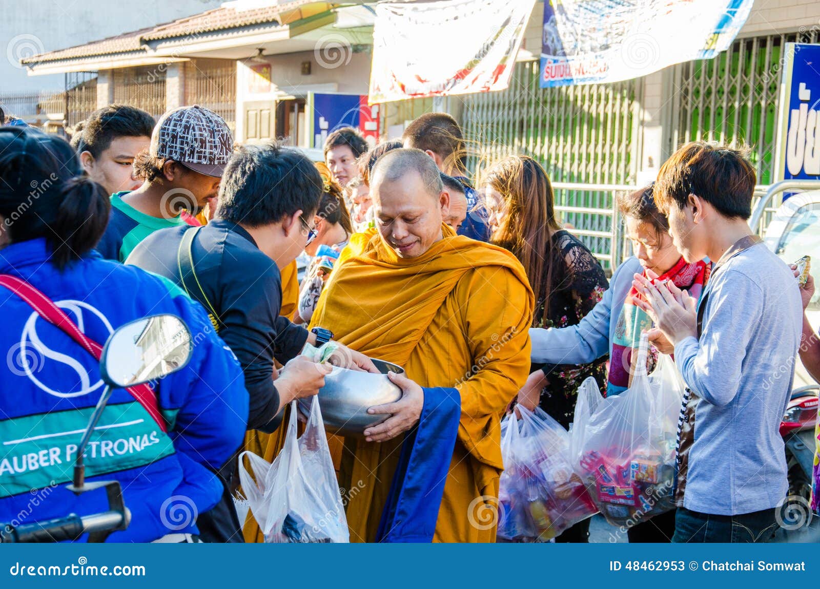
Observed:
[[[541,88],[638,78],[726,51],[753,0],[545,0]]]

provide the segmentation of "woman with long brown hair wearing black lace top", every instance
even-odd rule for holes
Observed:
[[[526,270],[535,293],[534,328],[578,324],[608,287],[598,260],[555,218],[553,188],[541,165],[529,156],[509,156],[493,165],[485,179],[492,242],[512,251]],[[575,411],[576,392],[590,376],[606,382],[606,359],[582,365],[560,359],[531,367],[539,387],[518,402],[540,406],[567,428]],[[531,377],[533,378],[533,377]],[[589,520],[577,523],[558,541],[587,541]]]

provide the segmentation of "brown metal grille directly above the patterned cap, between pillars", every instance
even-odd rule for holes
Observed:
[[[236,129],[236,61],[194,59],[185,62],[185,104],[210,108]]]

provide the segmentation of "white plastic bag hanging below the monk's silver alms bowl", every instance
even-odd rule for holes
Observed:
[[[273,464],[253,452],[239,456],[239,481],[248,506],[266,542],[348,542],[348,523],[316,396],[302,437],[296,434],[297,412],[293,401],[285,446]],[[245,457],[251,473],[244,468]]]

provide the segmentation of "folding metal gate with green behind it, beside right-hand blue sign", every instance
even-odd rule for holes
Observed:
[[[817,43],[818,29],[738,39],[711,60],[674,66],[667,150],[697,140],[751,147],[758,184],[773,180],[779,84],[786,43]],[[664,125],[666,126],[666,125]]]

